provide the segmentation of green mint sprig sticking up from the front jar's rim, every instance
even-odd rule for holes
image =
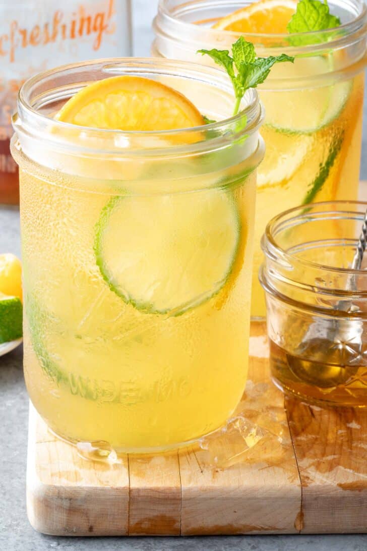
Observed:
[[[232,45],[232,56],[228,50],[198,50],[203,56],[208,55],[215,63],[223,67],[232,81],[236,98],[233,115],[237,115],[245,91],[256,88],[264,82],[273,64],[290,61],[294,57],[282,53],[280,56],[256,57],[252,42],[247,42],[243,36]]]

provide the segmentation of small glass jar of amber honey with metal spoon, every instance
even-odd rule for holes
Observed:
[[[291,209],[262,238],[271,374],[310,402],[367,406],[367,272],[350,268],[366,208]]]

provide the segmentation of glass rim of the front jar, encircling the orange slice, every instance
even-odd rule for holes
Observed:
[[[185,143],[184,145],[177,145],[176,143],[176,145],[173,144],[170,147],[165,147],[166,150],[174,150],[177,153],[184,153],[187,151],[191,153],[200,150],[205,151],[214,145],[215,149],[224,147],[225,145],[228,145],[229,134],[231,134],[232,139],[236,139],[237,134],[238,136],[243,136],[244,134],[248,136],[249,134],[253,134],[258,131],[264,118],[264,110],[261,106],[259,96],[254,89],[247,90],[242,101],[242,109],[240,109],[237,115],[224,118],[218,122],[209,123],[205,126],[180,128],[171,131],[122,131],[118,129],[100,129],[76,126],[70,123],[55,120],[54,118],[39,112],[40,107],[45,105],[45,102],[57,100],[57,94],[60,96],[59,99],[68,99],[70,96],[74,95],[76,91],[88,84],[88,82],[78,82],[78,84],[73,85],[73,83],[70,83],[69,79],[68,83],[59,89],[47,89],[46,87],[42,92],[42,83],[45,85],[49,83],[51,87],[52,81],[56,77],[62,78],[63,75],[77,74],[81,70],[90,72],[91,74],[93,69],[100,69],[105,72],[106,78],[114,75],[116,76],[117,74],[136,74],[139,72],[149,74],[161,73],[166,76],[179,76],[182,74],[184,78],[195,78],[201,83],[213,85],[219,89],[222,89],[223,92],[233,94],[232,84],[226,73],[216,67],[203,67],[199,63],[166,60],[163,58],[140,57],[106,58],[103,60],[92,60],[81,63],[67,64],[51,69],[50,71],[36,74],[34,77],[26,80],[18,94],[18,112],[13,116],[13,127],[15,132],[25,132],[28,133],[28,136],[32,136],[32,133],[37,133],[37,136],[41,136],[42,132],[47,131],[47,140],[51,139],[53,142],[58,141],[59,134],[62,133],[62,131],[66,131],[70,133],[70,135],[72,133],[75,134],[75,132],[78,132],[79,134],[83,132],[84,134],[89,134],[94,138],[98,137],[109,139],[109,141],[113,143],[118,142],[118,148],[116,148],[116,150],[109,150],[108,152],[113,154],[116,151],[121,152],[122,149],[128,149],[128,143],[131,138],[137,137],[142,142],[145,141],[146,143],[149,143],[151,142],[152,137],[172,137],[172,143],[174,143],[174,138],[180,136],[180,134],[182,135],[184,133],[185,136],[188,137],[190,137],[190,135],[197,136],[199,131],[203,131],[203,129],[205,129],[205,131],[207,131],[207,136],[205,139],[194,143],[192,141],[190,143],[190,140],[188,139],[188,143]],[[35,89],[37,89],[37,87],[39,87],[40,91],[32,97],[32,94],[35,94]],[[58,132],[53,132],[51,128],[58,129]],[[157,147],[146,147],[142,150],[145,152],[151,152],[152,150],[155,150],[156,152],[160,151]]]

